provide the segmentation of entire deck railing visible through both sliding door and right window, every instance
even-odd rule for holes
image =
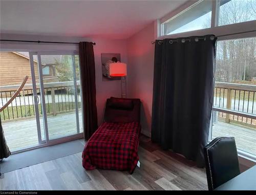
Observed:
[[[0,105],[3,106],[15,93],[19,85],[0,86]],[[40,99],[39,84],[36,85]],[[80,104],[80,82],[77,81],[78,107]],[[74,82],[44,83],[46,112],[57,115],[75,110]],[[256,125],[256,85],[215,82],[213,111],[225,122]],[[41,104],[38,104],[41,113]],[[20,119],[35,115],[32,84],[26,84],[22,92],[4,109],[2,120]]]

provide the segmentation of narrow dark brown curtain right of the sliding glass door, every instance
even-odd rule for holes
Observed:
[[[84,139],[98,128],[95,86],[95,62],[92,42],[79,43]]]

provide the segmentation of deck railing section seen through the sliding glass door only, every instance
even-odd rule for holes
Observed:
[[[19,85],[0,86],[1,107],[11,98]],[[39,99],[38,109],[41,114],[39,84],[36,84]],[[81,107],[80,82],[77,81],[78,108]],[[71,112],[75,110],[74,82],[49,82],[44,83],[44,95],[46,101],[46,112],[48,115]],[[32,84],[26,84],[19,95],[0,113],[1,120],[15,120],[24,117],[35,116],[35,104]]]

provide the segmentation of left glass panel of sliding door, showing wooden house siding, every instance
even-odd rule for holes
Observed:
[[[14,97],[23,79],[28,76],[22,90],[0,113],[7,144],[14,152],[42,143],[38,136],[37,100],[33,90],[35,73],[31,68],[29,52],[0,52],[0,55],[0,107]]]

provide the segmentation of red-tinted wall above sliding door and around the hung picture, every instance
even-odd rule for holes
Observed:
[[[95,55],[95,78],[96,78],[96,102],[98,113],[98,124],[102,123],[106,99],[114,96],[121,97],[120,80],[102,81],[101,72],[101,53],[120,53],[121,61],[127,63],[126,40],[120,39],[102,39],[94,37],[57,37],[57,36],[37,36],[37,35],[15,35],[1,34],[1,39],[18,39],[18,40],[40,40],[40,41],[65,41],[79,42],[92,41],[96,42],[94,46]],[[20,42],[1,41],[0,50],[14,51],[78,51],[77,44],[25,44]]]

